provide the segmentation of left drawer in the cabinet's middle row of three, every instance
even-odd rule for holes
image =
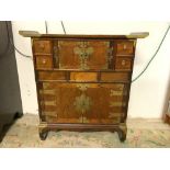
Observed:
[[[38,80],[66,80],[64,71],[38,71]]]

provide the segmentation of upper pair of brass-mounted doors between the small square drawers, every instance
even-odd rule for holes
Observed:
[[[54,43],[60,69],[107,69],[112,55],[106,41],[58,41]]]

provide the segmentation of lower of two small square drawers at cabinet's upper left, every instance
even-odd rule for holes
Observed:
[[[36,69],[49,69],[53,68],[52,56],[36,56],[35,57]]]

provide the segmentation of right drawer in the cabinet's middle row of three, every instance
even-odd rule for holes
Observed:
[[[102,72],[101,81],[129,81],[128,72]]]

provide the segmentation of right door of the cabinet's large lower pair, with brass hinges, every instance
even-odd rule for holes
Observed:
[[[90,99],[90,109],[83,123],[116,124],[124,116],[127,90],[121,83],[95,83],[87,88],[84,94]]]

